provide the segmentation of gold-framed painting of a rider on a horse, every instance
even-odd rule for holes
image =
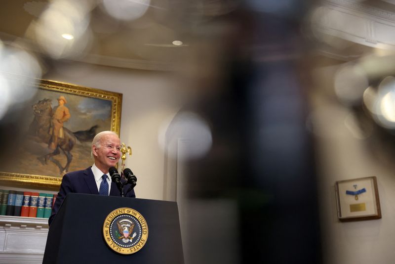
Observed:
[[[36,92],[18,128],[22,142],[15,146],[17,158],[0,164],[0,184],[55,189],[66,172],[93,164],[96,133],[119,134],[122,94],[48,80],[29,85]]]

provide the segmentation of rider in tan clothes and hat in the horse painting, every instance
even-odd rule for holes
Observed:
[[[52,139],[48,145],[50,149],[56,149],[58,137],[64,137],[61,128],[63,128],[63,122],[66,122],[70,118],[69,108],[65,106],[67,100],[63,95],[58,98],[58,103],[59,105],[54,109],[51,119]]]

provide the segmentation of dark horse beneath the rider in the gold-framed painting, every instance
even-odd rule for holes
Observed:
[[[30,124],[29,133],[40,138],[42,142],[49,143],[51,139],[50,127],[52,117],[52,105],[50,99],[42,99],[33,106],[33,113],[35,115],[33,122]],[[48,160],[53,161],[52,157],[60,154],[60,150],[66,155],[67,163],[65,167],[59,166],[61,173],[67,173],[70,163],[72,162],[73,155],[71,150],[74,145],[79,141],[91,141],[96,134],[97,126],[93,126],[85,131],[71,132],[67,128],[63,128],[64,137],[58,139],[55,150],[49,154],[39,157],[41,162],[47,164]]]

